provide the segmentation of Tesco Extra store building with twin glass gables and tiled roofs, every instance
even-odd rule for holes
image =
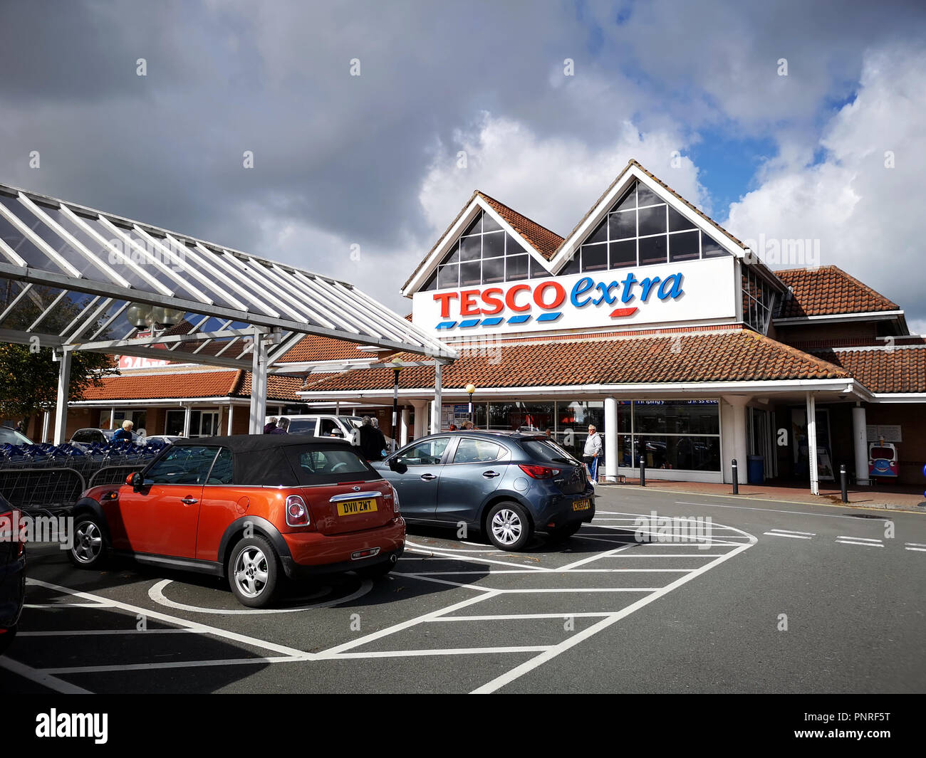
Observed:
[[[926,458],[926,344],[904,313],[837,267],[772,272],[631,161],[566,238],[474,193],[404,286],[412,320],[456,361],[397,356],[401,441],[469,418],[549,429],[599,472],[731,481],[918,483]],[[383,356],[382,362],[393,355]],[[435,400],[440,391],[440,403]],[[391,404],[394,370],[311,374],[307,403]],[[893,468],[893,471],[890,469]],[[814,473],[816,472],[816,476]]]

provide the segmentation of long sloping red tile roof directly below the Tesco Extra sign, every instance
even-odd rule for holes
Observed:
[[[497,388],[843,378],[849,378],[844,369],[750,329],[482,347],[461,351],[442,372],[446,389],[462,389],[469,382]],[[309,377],[304,391],[384,390],[392,382],[391,369],[371,368]],[[434,369],[406,368],[399,386],[430,390]]]

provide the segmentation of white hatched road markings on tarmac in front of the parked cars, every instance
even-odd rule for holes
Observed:
[[[618,513],[615,516],[633,516],[635,521],[638,518],[649,518],[648,515],[637,515],[637,514],[627,514],[627,513]],[[687,520],[687,519],[681,519]],[[713,525],[712,525],[713,526]],[[627,527],[617,527],[609,526],[604,524],[591,524],[586,528],[601,528],[605,530],[615,529],[623,531],[625,534],[628,532]],[[718,525],[717,528],[720,528]],[[579,560],[573,561],[567,565],[560,567],[549,567],[541,565],[525,565],[523,563],[515,563],[514,561],[506,561],[502,559],[494,559],[482,557],[482,555],[472,554],[469,551],[466,551],[466,554],[461,555],[462,551],[456,551],[452,548],[430,548],[424,545],[419,545],[415,543],[409,543],[409,552],[412,553],[424,553],[432,558],[432,560],[454,560],[462,561],[469,563],[475,562],[479,564],[486,565],[485,571],[451,571],[451,570],[442,570],[442,571],[428,571],[428,572],[395,572],[395,576],[401,576],[403,578],[415,578],[427,582],[435,582],[439,584],[449,585],[455,588],[465,589],[474,592],[475,594],[472,597],[469,597],[463,601],[457,603],[452,603],[450,605],[444,606],[437,610],[431,611],[429,613],[419,615],[413,618],[409,618],[406,621],[399,622],[390,627],[380,629],[375,632],[371,632],[367,635],[364,635],[360,638],[348,640],[341,644],[337,644],[323,650],[321,652],[305,652],[297,650],[285,645],[279,645],[268,640],[259,640],[254,637],[249,637],[247,635],[238,634],[232,631],[228,631],[222,628],[210,627],[205,624],[191,621],[185,618],[181,618],[174,615],[168,615],[158,611],[151,610],[149,608],[144,608],[141,606],[132,605],[130,603],[120,603],[118,601],[113,601],[110,598],[106,598],[100,595],[95,595],[91,592],[84,592],[78,590],[71,590],[67,587],[61,585],[56,585],[50,582],[44,582],[38,579],[29,579],[30,584],[44,587],[48,590],[55,590],[63,595],[69,597],[76,603],[44,603],[40,604],[40,607],[43,608],[53,608],[53,607],[67,607],[69,605],[81,605],[85,607],[97,607],[101,609],[106,609],[110,613],[130,613],[130,614],[141,614],[147,618],[161,621],[163,623],[169,624],[174,628],[169,629],[156,629],[151,630],[154,632],[159,632],[162,634],[197,634],[197,635],[207,635],[217,637],[219,639],[230,640],[232,642],[237,642],[240,644],[247,645],[252,648],[257,648],[258,650],[266,651],[269,654],[265,654],[261,657],[251,657],[251,658],[231,658],[231,659],[219,659],[219,660],[189,660],[189,661],[166,661],[166,662],[156,662],[156,663],[126,663],[126,664],[115,664],[115,665],[82,665],[82,666],[54,666],[47,667],[43,669],[35,669],[30,666],[23,665],[16,661],[11,661],[8,659],[0,659],[0,665],[6,667],[8,670],[13,671],[14,673],[19,674],[19,676],[30,678],[33,681],[43,684],[45,687],[48,687],[53,690],[60,692],[87,692],[88,690],[83,690],[82,688],[72,685],[67,681],[63,681],[57,678],[55,675],[74,675],[74,674],[90,674],[90,673],[104,673],[104,672],[127,672],[127,671],[147,671],[152,669],[182,669],[182,668],[198,668],[198,667],[210,667],[210,666],[233,666],[233,665],[268,665],[268,664],[281,664],[281,663],[309,663],[309,664],[319,664],[324,661],[332,660],[344,660],[344,659],[369,659],[369,658],[402,658],[402,657],[427,657],[427,656],[454,656],[454,655],[478,655],[481,653],[536,653],[529,660],[524,663],[515,666],[506,673],[502,674],[499,677],[495,677],[489,682],[486,682],[482,687],[473,690],[474,692],[484,693],[484,692],[493,692],[498,690],[507,684],[510,684],[515,679],[523,676],[524,674],[532,671],[540,665],[543,665],[547,661],[552,660],[557,655],[562,652],[569,650],[569,648],[574,647],[575,645],[580,644],[583,640],[587,640],[590,637],[594,636],[598,632],[612,626],[617,623],[620,619],[625,618],[628,615],[631,615],[637,610],[640,610],[645,605],[656,601],[658,598],[664,596],[668,592],[675,590],[681,587],[683,584],[691,581],[692,579],[700,576],[701,574],[707,572],[711,568],[714,568],[717,565],[720,565],[724,561],[729,560],[733,556],[743,553],[752,545],[756,544],[757,539],[750,534],[745,533],[740,529],[722,527],[725,531],[731,532],[725,534],[722,540],[705,537],[699,537],[698,535],[691,535],[690,539],[686,541],[651,541],[651,542],[624,542],[624,541],[615,541],[607,539],[606,537],[597,537],[593,535],[577,534],[575,537],[578,539],[589,539],[595,541],[605,541],[612,545],[615,545],[612,549],[605,550],[601,553],[595,553],[590,556],[586,556]],[[637,531],[636,529],[632,531]],[[658,532],[644,531],[645,534],[651,535],[655,538],[659,538],[661,535]],[[607,535],[607,531],[605,532]],[[689,552],[672,552],[672,553],[663,553],[662,555],[646,551],[644,553],[626,553],[631,548],[644,548],[644,547],[670,547],[670,548],[697,548],[698,550]],[[704,553],[703,551],[713,548],[710,553]],[[718,548],[721,548],[718,552]],[[726,552],[724,552],[724,550]],[[482,551],[479,551],[482,553]],[[500,553],[505,555],[506,553]],[[590,566],[590,564],[595,564],[604,559],[613,559],[621,557],[646,557],[646,558],[659,558],[659,557],[669,557],[669,558],[708,558],[707,563],[699,565],[696,567],[686,567],[686,568],[664,568],[664,567],[655,567],[655,568],[613,568],[613,567],[595,567]],[[414,560],[414,559],[409,559]],[[598,566],[601,566],[600,563],[597,563]],[[496,567],[497,566],[497,567]],[[549,574],[560,574],[560,575],[575,575],[576,578],[579,577],[589,577],[594,574],[601,574],[607,577],[617,577],[623,572],[628,576],[639,576],[640,574],[647,574],[653,578],[657,576],[668,574],[675,575],[681,574],[681,577],[673,578],[669,584],[659,587],[603,587],[603,588],[583,588],[583,587],[569,587],[569,588],[494,588],[486,587],[473,582],[456,582],[451,579],[444,579],[440,577],[453,577],[463,578],[466,576],[479,575],[480,578],[491,579],[494,576],[498,575],[519,575],[519,576],[530,576],[541,575],[548,576]],[[631,604],[624,607],[620,607],[613,611],[604,611],[599,613],[569,613],[569,611],[564,611],[563,613],[557,614],[482,614],[482,615],[458,615],[459,612],[464,611],[472,605],[479,603],[488,603],[492,602],[496,598],[510,597],[513,595],[533,595],[533,594],[549,594],[549,595],[562,595],[565,600],[569,600],[569,597],[577,597],[580,594],[584,593],[597,593],[601,595],[626,595],[628,593],[632,595],[642,594],[643,597],[638,597]],[[344,598],[342,603],[349,601],[350,598]],[[182,606],[181,606],[182,607]],[[398,645],[395,650],[357,650],[357,648],[369,645],[370,643],[384,640],[386,638],[393,638],[397,640],[396,636],[401,635],[403,632],[406,632],[412,628],[418,627],[422,624],[432,624],[434,622],[441,623],[453,623],[456,621],[459,622],[474,622],[474,621],[483,621],[483,622],[496,622],[496,621],[511,621],[519,619],[568,619],[568,618],[594,618],[598,619],[596,623],[592,626],[583,629],[581,632],[576,632],[571,634],[567,639],[559,642],[558,644],[550,645],[520,645],[520,646],[510,646],[510,645],[500,645],[500,646],[487,646],[487,647],[471,647],[471,648],[460,648],[460,647],[446,647],[446,648],[435,648],[435,649],[419,649],[417,646],[409,645],[407,649],[403,649],[404,646]],[[140,633],[134,629],[87,629],[87,630],[78,630],[73,632],[73,634],[83,635],[83,636],[104,636],[106,634],[121,634],[121,635],[131,635],[133,633]],[[64,636],[69,634],[68,632],[22,632],[23,636],[32,636],[32,637],[54,637],[54,636]],[[273,654],[277,653],[277,654]]]

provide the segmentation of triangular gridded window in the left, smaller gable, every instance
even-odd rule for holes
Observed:
[[[607,238],[607,230],[605,236]],[[493,217],[480,211],[421,289],[478,287],[548,276],[550,272],[543,264],[521,247]]]

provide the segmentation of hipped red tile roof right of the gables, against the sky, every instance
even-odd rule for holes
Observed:
[[[778,318],[900,310],[899,305],[839,267],[789,268],[775,275],[794,291],[782,304]]]

